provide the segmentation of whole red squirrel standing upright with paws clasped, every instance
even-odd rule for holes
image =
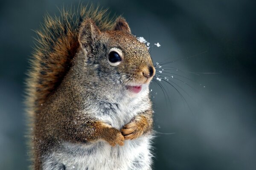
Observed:
[[[26,80],[34,170],[151,170],[155,74],[121,16],[80,6],[46,15]]]

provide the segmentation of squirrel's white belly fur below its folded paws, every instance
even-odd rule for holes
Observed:
[[[43,162],[44,170],[150,170],[151,136],[127,140],[123,146],[107,142],[73,144],[65,142]]]

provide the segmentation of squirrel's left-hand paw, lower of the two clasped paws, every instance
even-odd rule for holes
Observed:
[[[124,140],[125,138],[122,133],[115,128],[109,128],[108,134],[105,136],[105,141],[111,146],[116,146],[116,144],[122,146],[124,145]]]

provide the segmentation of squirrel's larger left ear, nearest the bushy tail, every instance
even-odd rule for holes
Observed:
[[[81,46],[93,45],[101,34],[99,28],[91,19],[86,19],[79,28],[78,40]]]

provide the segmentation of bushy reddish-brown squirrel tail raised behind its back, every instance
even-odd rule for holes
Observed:
[[[84,18],[91,18],[101,31],[113,26],[107,10],[99,6],[79,6],[77,10],[62,9],[60,17],[46,15],[36,31],[31,68],[26,81],[26,105],[29,117],[40,113],[47,97],[55,91],[70,68],[79,47],[78,29]]]

